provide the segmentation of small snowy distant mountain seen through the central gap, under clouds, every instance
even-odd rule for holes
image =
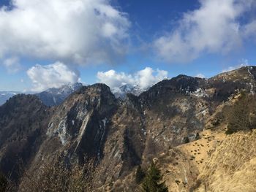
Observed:
[[[140,93],[146,90],[141,89],[138,85],[125,84],[119,88],[113,88],[111,91],[116,96],[116,98],[123,99],[127,93],[132,93],[133,95],[138,96]]]

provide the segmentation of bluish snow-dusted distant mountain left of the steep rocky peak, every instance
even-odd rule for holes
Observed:
[[[74,93],[83,86],[80,82],[69,83],[61,88],[49,88],[35,95],[47,106],[56,106],[61,104],[70,94]]]

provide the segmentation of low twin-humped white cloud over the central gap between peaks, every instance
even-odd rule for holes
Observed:
[[[167,78],[167,74],[167,71],[159,69],[154,70],[150,67],[146,67],[145,69],[135,72],[134,74],[116,72],[114,70],[110,70],[108,72],[98,72],[97,79],[98,82],[104,82],[112,89],[118,89],[122,85],[130,84],[138,85],[139,88],[145,90],[160,80]]]

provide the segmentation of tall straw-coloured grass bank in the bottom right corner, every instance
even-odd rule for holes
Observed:
[[[256,131],[228,136],[200,174],[207,191],[255,191]],[[197,191],[205,191],[203,185]]]

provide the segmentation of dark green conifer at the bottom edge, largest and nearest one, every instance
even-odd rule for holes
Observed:
[[[145,179],[143,180],[143,191],[145,192],[167,192],[168,188],[165,182],[162,182],[162,174],[154,162],[148,169]]]

